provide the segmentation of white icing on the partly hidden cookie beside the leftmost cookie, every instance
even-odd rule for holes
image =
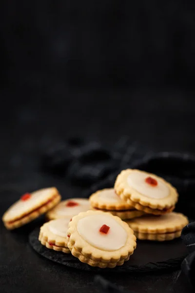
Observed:
[[[68,202],[75,202],[78,203],[77,206],[67,207]],[[54,209],[55,216],[59,218],[69,218],[76,216],[79,212],[87,211],[90,209],[90,204],[88,199],[86,198],[71,198],[66,201],[62,201],[59,205]]]

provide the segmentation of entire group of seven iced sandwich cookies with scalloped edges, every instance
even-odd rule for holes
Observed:
[[[2,220],[11,230],[45,213],[48,222],[40,228],[40,243],[99,268],[114,268],[128,261],[136,249],[136,237],[172,240],[188,224],[186,216],[173,212],[176,188],[136,169],[121,171],[114,188],[98,190],[89,200],[60,200],[57,188],[26,193]]]

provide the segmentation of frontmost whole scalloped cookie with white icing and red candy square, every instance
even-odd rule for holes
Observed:
[[[128,224],[103,211],[88,210],[73,217],[67,237],[74,256],[99,268],[122,265],[136,249],[136,236]]]

